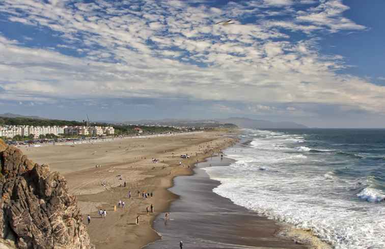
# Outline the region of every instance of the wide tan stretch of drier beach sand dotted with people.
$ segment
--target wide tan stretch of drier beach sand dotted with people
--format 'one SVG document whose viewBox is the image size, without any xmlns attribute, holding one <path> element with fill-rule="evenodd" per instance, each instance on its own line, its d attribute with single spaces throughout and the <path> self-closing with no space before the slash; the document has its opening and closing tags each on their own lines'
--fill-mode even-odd
<svg viewBox="0 0 385 249">
<path fill-rule="evenodd" d="M 167 190 L 172 186 L 173 178 L 191 174 L 190 168 L 197 160 L 202 161 L 234 143 L 224 133 L 203 132 L 20 149 L 33 161 L 47 163 L 52 171 L 64 174 L 84 217 L 91 216 L 88 231 L 97 248 L 134 249 L 159 239 L 151 228 L 152 220 L 177 198 Z M 186 153 L 191 156 L 189 159 L 179 157 Z M 153 163 L 152 158 L 159 161 Z M 123 187 L 124 182 L 126 187 Z M 153 192 L 154 197 L 137 197 L 138 190 Z M 127 197 L 128 191 L 131 191 L 131 199 Z M 119 200 L 126 206 L 114 211 Z M 147 215 L 146 207 L 151 204 L 155 212 Z M 98 217 L 99 208 L 107 211 L 106 218 Z M 135 225 L 137 215 L 140 215 L 139 226 Z M 86 223 L 86 218 L 84 220 Z"/>
</svg>

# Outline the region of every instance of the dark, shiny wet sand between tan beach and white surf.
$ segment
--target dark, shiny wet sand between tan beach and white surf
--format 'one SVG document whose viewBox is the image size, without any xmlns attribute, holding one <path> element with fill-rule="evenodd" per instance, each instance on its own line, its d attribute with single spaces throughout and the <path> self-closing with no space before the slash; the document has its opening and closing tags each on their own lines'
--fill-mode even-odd
<svg viewBox="0 0 385 249">
<path fill-rule="evenodd" d="M 154 221 L 154 229 L 162 236 L 145 249 L 179 248 L 307 248 L 293 240 L 277 236 L 280 226 L 274 220 L 257 215 L 212 192 L 219 185 L 202 168 L 228 165 L 230 159 L 208 158 L 198 163 L 193 176 L 174 179 L 170 191 L 179 199 L 170 205 L 170 220 L 164 213 Z"/>
</svg>

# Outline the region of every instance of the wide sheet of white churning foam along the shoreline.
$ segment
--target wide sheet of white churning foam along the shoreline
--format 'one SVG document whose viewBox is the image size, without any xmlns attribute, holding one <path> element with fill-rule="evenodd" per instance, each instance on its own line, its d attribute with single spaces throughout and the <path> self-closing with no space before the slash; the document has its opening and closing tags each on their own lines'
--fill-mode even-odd
<svg viewBox="0 0 385 249">
<path fill-rule="evenodd" d="M 236 162 L 205 169 L 221 182 L 214 192 L 272 219 L 312 229 L 336 249 L 385 248 L 385 208 L 378 203 L 385 196 L 369 187 L 370 179 L 341 179 L 327 166 L 329 153 L 295 154 L 312 149 L 296 147 L 286 134 L 253 132 L 251 147 L 228 150 Z M 362 189 L 358 194 L 357 188 Z"/>
</svg>

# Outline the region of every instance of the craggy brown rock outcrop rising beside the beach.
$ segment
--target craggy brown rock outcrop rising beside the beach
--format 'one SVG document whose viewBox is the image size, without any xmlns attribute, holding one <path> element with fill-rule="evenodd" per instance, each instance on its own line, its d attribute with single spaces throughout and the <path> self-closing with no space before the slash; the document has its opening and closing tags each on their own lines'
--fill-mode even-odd
<svg viewBox="0 0 385 249">
<path fill-rule="evenodd" d="M 0 165 L 0 249 L 94 248 L 63 176 L 2 140 Z"/>
</svg>

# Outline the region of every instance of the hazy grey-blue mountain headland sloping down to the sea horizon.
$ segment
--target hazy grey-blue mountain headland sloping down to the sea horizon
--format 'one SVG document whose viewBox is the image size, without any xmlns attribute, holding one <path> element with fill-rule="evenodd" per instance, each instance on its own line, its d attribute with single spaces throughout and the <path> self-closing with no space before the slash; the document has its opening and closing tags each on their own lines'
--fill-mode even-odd
<svg viewBox="0 0 385 249">
<path fill-rule="evenodd" d="M 294 122 L 271 122 L 267 120 L 255 120 L 248 118 L 217 119 L 221 123 L 231 123 L 242 128 L 266 128 L 266 129 L 299 129 L 308 128 L 305 125 Z"/>
</svg>

